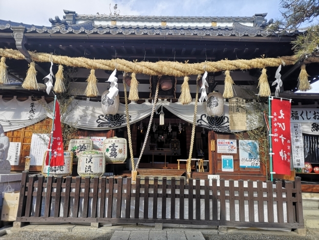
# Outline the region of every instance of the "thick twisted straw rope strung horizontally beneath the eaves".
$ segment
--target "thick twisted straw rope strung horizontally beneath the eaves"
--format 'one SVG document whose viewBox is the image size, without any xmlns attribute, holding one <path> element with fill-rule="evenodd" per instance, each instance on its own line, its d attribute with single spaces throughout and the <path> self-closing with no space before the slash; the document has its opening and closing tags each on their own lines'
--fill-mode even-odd
<svg viewBox="0 0 319 240">
<path fill-rule="evenodd" d="M 85 57 L 68 57 L 52 55 L 43 52 L 28 51 L 33 61 L 35 62 L 50 62 L 63 64 L 69 67 L 86 68 L 86 69 L 102 69 L 114 70 L 123 72 L 143 73 L 146 75 L 170 75 L 175 77 L 185 75 L 195 75 L 204 73 L 204 67 L 207 72 L 220 72 L 225 70 L 249 70 L 249 69 L 263 69 L 266 67 L 278 67 L 279 65 L 293 65 L 298 61 L 296 56 L 282 56 L 278 58 L 255 58 L 251 60 L 237 59 L 237 60 L 220 60 L 216 62 L 202 62 L 202 63 L 179 63 L 167 61 L 151 62 L 130 62 L 124 59 L 88 59 Z M 0 48 L 0 56 L 6 58 L 13 58 L 17 60 L 25 59 L 24 55 L 19 50 Z M 305 64 L 311 62 L 319 62 L 319 57 L 310 57 L 304 61 Z M 187 66 L 186 66 L 187 65 Z"/>
</svg>

